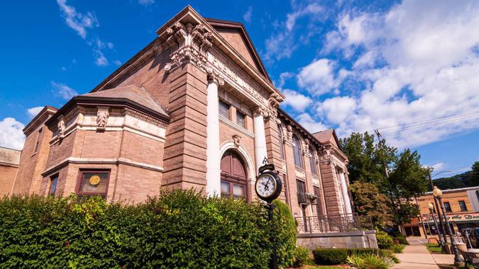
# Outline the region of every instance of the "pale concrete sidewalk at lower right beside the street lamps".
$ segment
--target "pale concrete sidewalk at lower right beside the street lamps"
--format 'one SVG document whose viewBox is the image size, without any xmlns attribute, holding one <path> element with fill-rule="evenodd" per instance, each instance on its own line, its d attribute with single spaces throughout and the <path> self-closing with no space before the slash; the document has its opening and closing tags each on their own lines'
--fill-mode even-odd
<svg viewBox="0 0 479 269">
<path fill-rule="evenodd" d="M 431 255 L 424 245 L 409 245 L 403 253 L 396 254 L 401 263 L 394 265 L 394 269 L 407 268 L 439 268 L 438 264 L 453 264 L 454 256 L 447 254 Z"/>
</svg>

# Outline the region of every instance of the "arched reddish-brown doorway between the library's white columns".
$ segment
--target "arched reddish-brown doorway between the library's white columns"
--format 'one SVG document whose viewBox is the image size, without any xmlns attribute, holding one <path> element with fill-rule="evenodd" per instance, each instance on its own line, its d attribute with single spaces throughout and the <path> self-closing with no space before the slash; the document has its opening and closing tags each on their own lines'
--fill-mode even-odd
<svg viewBox="0 0 479 269">
<path fill-rule="evenodd" d="M 221 157 L 221 196 L 234 199 L 247 198 L 248 172 L 243 159 L 229 149 Z"/>
</svg>

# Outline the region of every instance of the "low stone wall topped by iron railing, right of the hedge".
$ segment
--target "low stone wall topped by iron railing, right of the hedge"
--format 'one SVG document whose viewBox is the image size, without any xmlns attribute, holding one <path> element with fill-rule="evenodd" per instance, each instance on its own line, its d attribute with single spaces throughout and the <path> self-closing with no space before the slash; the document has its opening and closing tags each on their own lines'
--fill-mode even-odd
<svg viewBox="0 0 479 269">
<path fill-rule="evenodd" d="M 309 248 L 378 248 L 375 231 L 298 234 L 297 245 Z"/>
</svg>

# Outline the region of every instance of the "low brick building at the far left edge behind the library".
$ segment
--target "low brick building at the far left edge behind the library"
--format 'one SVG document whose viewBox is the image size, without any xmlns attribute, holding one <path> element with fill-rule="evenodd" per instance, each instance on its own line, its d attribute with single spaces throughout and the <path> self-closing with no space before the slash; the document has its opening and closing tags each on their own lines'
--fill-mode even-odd
<svg viewBox="0 0 479 269">
<path fill-rule="evenodd" d="M 0 198 L 9 195 L 15 181 L 21 151 L 0 147 Z"/>
</svg>

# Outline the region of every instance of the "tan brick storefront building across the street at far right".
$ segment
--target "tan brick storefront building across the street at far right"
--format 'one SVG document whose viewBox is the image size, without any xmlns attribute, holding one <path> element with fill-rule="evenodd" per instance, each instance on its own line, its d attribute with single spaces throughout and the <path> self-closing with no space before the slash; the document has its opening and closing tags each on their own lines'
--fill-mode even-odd
<svg viewBox="0 0 479 269">
<path fill-rule="evenodd" d="M 451 230 L 453 232 L 460 232 L 463 228 L 478 227 L 479 187 L 443 190 L 442 193 L 442 200 L 446 209 L 446 217 L 448 222 L 450 222 Z M 434 197 L 432 193 L 424 193 L 424 195 L 417 197 L 417 201 L 413 200 L 413 202 L 417 205 L 421 216 L 411 219 L 409 224 L 404 224 L 404 234 L 406 236 L 425 237 L 425 229 L 427 235 L 437 235 L 438 231 L 434 225 L 434 219 L 431 216 L 428 207 L 429 202 L 434 205 Z M 438 222 L 438 225 L 440 226 L 436 212 L 438 212 L 438 210 L 434 208 L 436 222 Z M 424 228 L 422 225 L 423 223 Z"/>
</svg>

